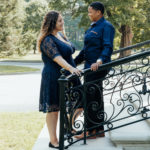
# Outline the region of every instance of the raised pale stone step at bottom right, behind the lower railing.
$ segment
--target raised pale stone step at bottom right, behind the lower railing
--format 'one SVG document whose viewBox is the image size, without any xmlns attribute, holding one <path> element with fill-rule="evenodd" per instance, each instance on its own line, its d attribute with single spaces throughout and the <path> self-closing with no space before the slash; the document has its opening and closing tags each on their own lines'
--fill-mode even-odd
<svg viewBox="0 0 150 150">
<path fill-rule="evenodd" d="M 141 117 L 134 116 L 129 118 L 128 121 L 136 121 L 137 119 L 141 119 Z M 124 120 L 122 123 L 126 121 Z M 124 150 L 150 150 L 150 126 L 147 121 L 110 131 L 109 134 L 112 142 L 116 146 L 123 147 Z"/>
</svg>

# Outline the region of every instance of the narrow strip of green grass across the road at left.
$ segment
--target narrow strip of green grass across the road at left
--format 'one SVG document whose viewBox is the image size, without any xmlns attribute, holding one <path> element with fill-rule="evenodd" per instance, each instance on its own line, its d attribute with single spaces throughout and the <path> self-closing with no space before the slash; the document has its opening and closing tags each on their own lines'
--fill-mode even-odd
<svg viewBox="0 0 150 150">
<path fill-rule="evenodd" d="M 12 73 L 23 73 L 23 72 L 34 72 L 40 71 L 40 69 L 20 66 L 0 66 L 0 74 L 12 74 Z"/>
</svg>

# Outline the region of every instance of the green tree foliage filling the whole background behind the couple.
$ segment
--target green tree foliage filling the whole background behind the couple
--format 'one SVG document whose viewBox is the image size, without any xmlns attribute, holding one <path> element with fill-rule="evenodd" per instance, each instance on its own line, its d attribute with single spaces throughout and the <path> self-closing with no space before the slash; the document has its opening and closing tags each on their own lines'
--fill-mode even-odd
<svg viewBox="0 0 150 150">
<path fill-rule="evenodd" d="M 0 0 L 0 57 L 25 55 L 36 50 L 43 16 L 62 12 L 68 39 L 82 49 L 84 31 L 90 26 L 87 9 L 93 0 Z M 133 31 L 133 44 L 149 39 L 150 0 L 101 0 L 105 18 L 116 28 L 115 49 L 120 46 L 122 25 Z"/>
</svg>

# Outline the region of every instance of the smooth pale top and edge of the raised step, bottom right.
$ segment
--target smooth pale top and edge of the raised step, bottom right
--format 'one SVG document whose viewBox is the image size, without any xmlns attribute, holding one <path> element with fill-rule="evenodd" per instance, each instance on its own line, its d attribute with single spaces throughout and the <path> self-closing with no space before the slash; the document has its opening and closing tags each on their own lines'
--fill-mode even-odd
<svg viewBox="0 0 150 150">
<path fill-rule="evenodd" d="M 110 131 L 109 134 L 115 144 L 150 144 L 150 127 L 147 121 Z"/>
</svg>

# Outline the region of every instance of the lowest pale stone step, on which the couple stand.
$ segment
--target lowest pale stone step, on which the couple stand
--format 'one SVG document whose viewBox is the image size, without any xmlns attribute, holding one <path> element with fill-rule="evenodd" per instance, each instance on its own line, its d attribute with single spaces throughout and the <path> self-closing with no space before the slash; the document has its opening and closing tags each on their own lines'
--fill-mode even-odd
<svg viewBox="0 0 150 150">
<path fill-rule="evenodd" d="M 59 132 L 57 129 L 57 135 L 58 133 Z M 48 143 L 49 135 L 47 126 L 45 125 L 32 150 L 53 150 L 52 148 L 48 147 Z M 83 141 L 80 141 L 70 146 L 68 150 L 122 150 L 122 148 L 116 148 L 110 141 L 109 133 L 106 133 L 105 138 L 87 140 L 86 145 L 83 145 Z"/>
</svg>

